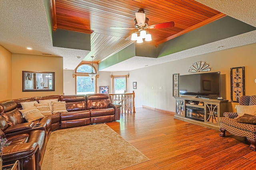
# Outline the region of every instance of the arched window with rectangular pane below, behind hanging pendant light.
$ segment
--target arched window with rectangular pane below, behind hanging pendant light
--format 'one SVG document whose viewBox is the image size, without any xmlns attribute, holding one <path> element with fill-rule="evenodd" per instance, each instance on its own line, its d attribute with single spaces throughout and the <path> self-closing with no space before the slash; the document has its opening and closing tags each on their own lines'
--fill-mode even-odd
<svg viewBox="0 0 256 170">
<path fill-rule="evenodd" d="M 96 93 L 96 80 L 92 82 L 88 74 L 92 71 L 96 73 L 90 64 L 81 64 L 76 68 L 76 94 Z"/>
</svg>

